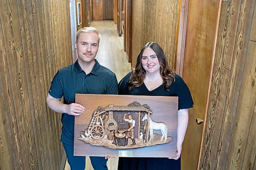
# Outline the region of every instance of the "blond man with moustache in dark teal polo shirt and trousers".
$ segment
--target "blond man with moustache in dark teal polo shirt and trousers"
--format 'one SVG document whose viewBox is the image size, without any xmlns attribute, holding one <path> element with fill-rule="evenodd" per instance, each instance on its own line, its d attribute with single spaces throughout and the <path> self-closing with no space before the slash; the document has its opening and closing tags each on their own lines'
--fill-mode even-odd
<svg viewBox="0 0 256 170">
<path fill-rule="evenodd" d="M 84 169 L 86 157 L 74 156 L 74 119 L 84 107 L 75 103 L 75 94 L 117 94 L 114 72 L 101 66 L 95 59 L 100 35 L 93 27 L 84 27 L 76 33 L 75 48 L 78 59 L 74 64 L 61 68 L 52 80 L 46 102 L 52 110 L 62 113 L 61 142 L 71 169 Z M 60 99 L 63 96 L 63 103 Z M 104 157 L 90 157 L 94 169 L 108 169 Z"/>
</svg>

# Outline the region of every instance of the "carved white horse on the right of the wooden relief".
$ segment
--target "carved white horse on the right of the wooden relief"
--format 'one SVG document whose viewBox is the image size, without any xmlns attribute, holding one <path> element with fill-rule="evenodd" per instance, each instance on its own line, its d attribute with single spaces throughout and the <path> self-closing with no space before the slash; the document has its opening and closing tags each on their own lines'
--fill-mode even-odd
<svg viewBox="0 0 256 170">
<path fill-rule="evenodd" d="M 149 116 L 149 117 L 150 117 L 150 116 Z M 145 114 L 145 115 L 143 116 L 142 121 L 144 121 L 144 120 L 147 120 L 147 114 Z M 164 123 L 157 123 L 157 122 L 154 122 L 154 121 L 151 119 L 151 117 L 150 117 L 149 126 L 150 126 L 150 140 L 153 140 L 153 131 L 154 131 L 154 130 L 161 130 L 161 133 L 162 133 L 161 141 L 163 140 L 163 138 L 164 138 L 164 141 L 166 141 L 168 129 L 167 129 L 167 126 L 166 126 Z"/>
</svg>

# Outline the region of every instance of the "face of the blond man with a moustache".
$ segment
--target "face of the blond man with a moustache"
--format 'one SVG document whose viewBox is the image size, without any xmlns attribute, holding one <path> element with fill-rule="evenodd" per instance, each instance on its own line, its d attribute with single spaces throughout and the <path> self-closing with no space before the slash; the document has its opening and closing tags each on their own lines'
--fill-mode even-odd
<svg viewBox="0 0 256 170">
<path fill-rule="evenodd" d="M 94 62 L 99 49 L 99 37 L 96 33 L 81 33 L 75 43 L 78 54 L 78 61 Z"/>
</svg>

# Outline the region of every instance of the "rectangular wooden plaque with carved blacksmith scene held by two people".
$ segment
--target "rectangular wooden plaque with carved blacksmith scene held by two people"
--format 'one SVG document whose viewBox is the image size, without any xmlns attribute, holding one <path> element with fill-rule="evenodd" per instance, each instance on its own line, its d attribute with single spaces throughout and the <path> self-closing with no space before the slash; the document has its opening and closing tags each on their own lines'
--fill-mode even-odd
<svg viewBox="0 0 256 170">
<path fill-rule="evenodd" d="M 74 155 L 176 156 L 178 97 L 76 94 Z"/>
</svg>

